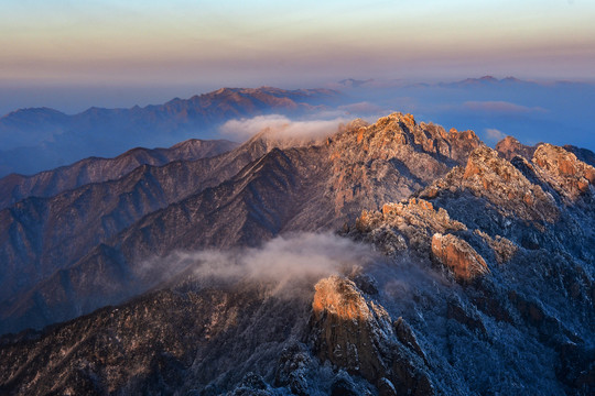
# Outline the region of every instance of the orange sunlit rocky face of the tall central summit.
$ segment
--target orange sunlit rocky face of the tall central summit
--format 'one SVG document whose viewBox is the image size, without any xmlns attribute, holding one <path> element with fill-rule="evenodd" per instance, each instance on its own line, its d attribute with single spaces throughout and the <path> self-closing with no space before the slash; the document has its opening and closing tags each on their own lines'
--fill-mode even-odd
<svg viewBox="0 0 595 396">
<path fill-rule="evenodd" d="M 380 207 L 388 197 L 408 197 L 454 165 L 465 162 L 479 139 L 472 132 L 446 133 L 393 113 L 367 125 L 354 122 L 331 138 L 329 194 L 336 211 Z"/>
</svg>

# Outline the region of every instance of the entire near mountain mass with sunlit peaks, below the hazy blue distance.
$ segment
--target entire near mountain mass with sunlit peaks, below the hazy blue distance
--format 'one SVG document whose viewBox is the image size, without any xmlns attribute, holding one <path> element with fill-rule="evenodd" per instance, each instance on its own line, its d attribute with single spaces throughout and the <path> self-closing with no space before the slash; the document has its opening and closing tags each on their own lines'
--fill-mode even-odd
<svg viewBox="0 0 595 396">
<path fill-rule="evenodd" d="M 0 392 L 595 389 L 589 151 L 402 113 L 212 144 L 0 180 Z"/>
</svg>

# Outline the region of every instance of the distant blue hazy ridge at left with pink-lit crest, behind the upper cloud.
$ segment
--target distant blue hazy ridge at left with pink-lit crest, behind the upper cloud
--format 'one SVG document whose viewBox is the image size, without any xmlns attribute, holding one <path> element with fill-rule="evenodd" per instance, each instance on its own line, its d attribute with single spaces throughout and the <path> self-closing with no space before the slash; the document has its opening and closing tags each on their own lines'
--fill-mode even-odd
<svg viewBox="0 0 595 396">
<path fill-rule="evenodd" d="M 91 108 L 74 116 L 45 108 L 18 110 L 0 118 L 0 177 L 34 174 L 91 155 L 113 156 L 141 144 L 213 138 L 229 119 L 320 111 L 337 96 L 328 89 L 221 88 L 159 106 Z"/>
</svg>

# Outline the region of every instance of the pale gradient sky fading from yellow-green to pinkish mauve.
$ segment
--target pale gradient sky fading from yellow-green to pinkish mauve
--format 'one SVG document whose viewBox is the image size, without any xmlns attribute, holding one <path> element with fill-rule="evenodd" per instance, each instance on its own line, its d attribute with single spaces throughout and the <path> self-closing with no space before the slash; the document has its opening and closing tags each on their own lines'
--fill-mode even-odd
<svg viewBox="0 0 595 396">
<path fill-rule="evenodd" d="M 0 0 L 0 81 L 595 79 L 595 1 Z"/>
</svg>

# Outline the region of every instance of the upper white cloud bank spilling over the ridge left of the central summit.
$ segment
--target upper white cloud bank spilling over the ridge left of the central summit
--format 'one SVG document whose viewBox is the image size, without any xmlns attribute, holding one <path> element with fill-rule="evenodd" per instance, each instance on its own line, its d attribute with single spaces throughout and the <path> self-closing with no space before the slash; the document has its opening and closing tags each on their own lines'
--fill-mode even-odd
<svg viewBox="0 0 595 396">
<path fill-rule="evenodd" d="M 250 119 L 229 120 L 220 128 L 224 135 L 247 140 L 260 132 L 284 139 L 321 139 L 335 133 L 342 123 L 350 119 L 292 121 L 285 116 L 258 116 Z"/>
</svg>

